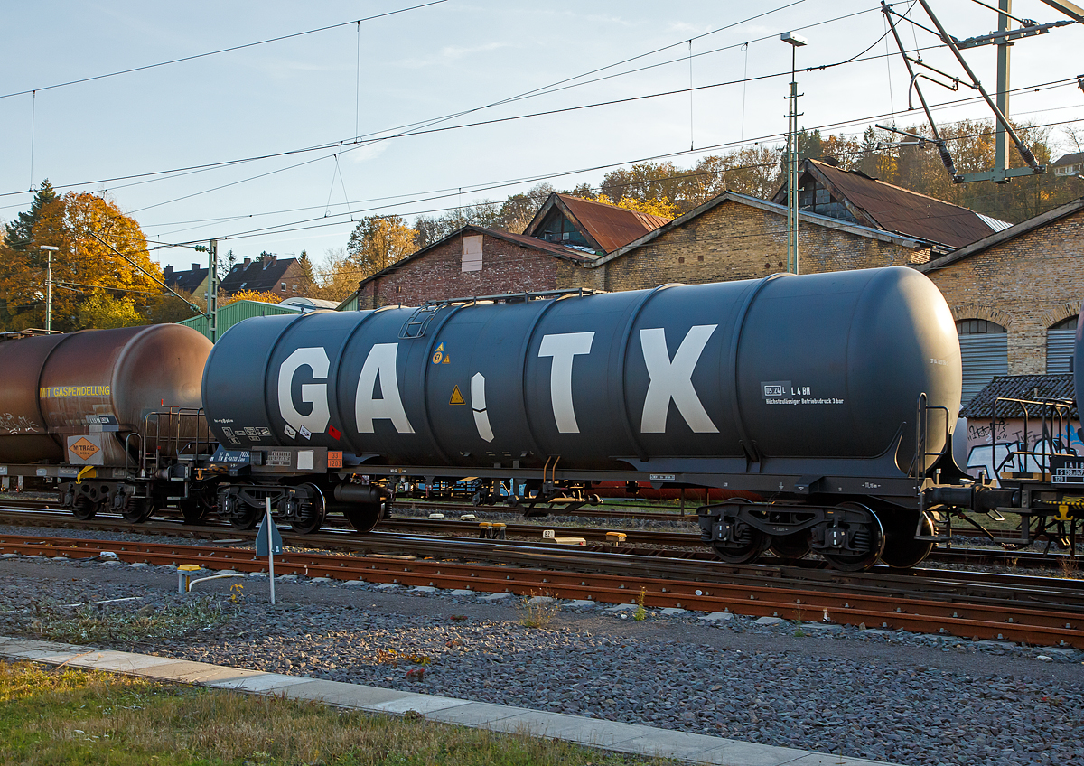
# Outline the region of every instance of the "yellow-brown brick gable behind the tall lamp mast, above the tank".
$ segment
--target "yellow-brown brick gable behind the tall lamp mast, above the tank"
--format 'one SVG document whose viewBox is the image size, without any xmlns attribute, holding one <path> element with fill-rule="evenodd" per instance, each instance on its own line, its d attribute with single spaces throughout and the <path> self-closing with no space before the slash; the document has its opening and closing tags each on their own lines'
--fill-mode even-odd
<svg viewBox="0 0 1084 766">
<path fill-rule="evenodd" d="M 836 218 L 802 212 L 801 273 L 913 265 L 933 245 Z M 668 282 L 751 280 L 786 271 L 787 209 L 724 192 L 606 256 L 584 263 L 582 281 L 563 287 L 632 290 Z"/>
</svg>

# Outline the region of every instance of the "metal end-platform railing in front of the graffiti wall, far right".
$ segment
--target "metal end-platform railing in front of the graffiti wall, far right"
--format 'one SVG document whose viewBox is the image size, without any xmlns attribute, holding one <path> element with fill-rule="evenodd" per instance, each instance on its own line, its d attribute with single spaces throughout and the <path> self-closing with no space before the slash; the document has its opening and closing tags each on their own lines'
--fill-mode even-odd
<svg viewBox="0 0 1084 766">
<path fill-rule="evenodd" d="M 1003 418 L 1023 415 L 1023 432 L 1020 439 L 1014 441 L 997 441 L 997 410 L 1002 407 Z M 1072 406 L 1071 399 L 1035 398 L 1015 399 L 998 397 L 990 416 L 990 442 L 992 454 L 996 455 L 998 446 L 1006 450 L 1005 457 L 994 468 L 997 479 L 1006 467 L 1015 470 L 1010 473 L 1038 473 L 1044 478 L 1050 472 L 1050 462 L 1055 456 L 1075 456 L 1072 443 Z M 1006 412 L 1008 411 L 1008 413 Z M 1033 424 L 1040 421 L 1036 439 L 1032 440 Z M 1038 449 L 1036 449 L 1038 447 Z M 1035 470 L 1030 470 L 1034 468 Z"/>
</svg>

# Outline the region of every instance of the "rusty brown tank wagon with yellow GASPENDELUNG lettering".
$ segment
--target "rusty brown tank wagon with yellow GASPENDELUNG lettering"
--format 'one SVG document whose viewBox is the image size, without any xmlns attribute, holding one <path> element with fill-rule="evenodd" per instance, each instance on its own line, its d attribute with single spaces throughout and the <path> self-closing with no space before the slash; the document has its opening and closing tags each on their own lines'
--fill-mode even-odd
<svg viewBox="0 0 1084 766">
<path fill-rule="evenodd" d="M 116 480 L 139 468 L 142 453 L 172 456 L 206 441 L 202 417 L 179 416 L 201 407 L 211 342 L 196 330 L 169 324 L 8 337 L 0 342 L 0 463 L 77 479 L 61 488 L 80 515 L 124 509 L 134 495 Z"/>
</svg>

